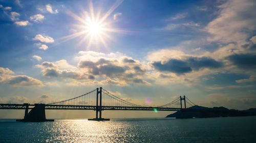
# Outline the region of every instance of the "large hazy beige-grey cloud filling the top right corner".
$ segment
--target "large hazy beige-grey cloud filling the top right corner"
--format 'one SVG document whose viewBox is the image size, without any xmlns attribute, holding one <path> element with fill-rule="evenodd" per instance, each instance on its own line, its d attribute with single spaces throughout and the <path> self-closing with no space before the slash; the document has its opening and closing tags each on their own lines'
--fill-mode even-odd
<svg viewBox="0 0 256 143">
<path fill-rule="evenodd" d="M 208 41 L 227 43 L 246 40 L 256 28 L 255 7 L 253 0 L 227 1 L 219 6 L 219 16 L 205 27 L 212 35 Z"/>
</svg>

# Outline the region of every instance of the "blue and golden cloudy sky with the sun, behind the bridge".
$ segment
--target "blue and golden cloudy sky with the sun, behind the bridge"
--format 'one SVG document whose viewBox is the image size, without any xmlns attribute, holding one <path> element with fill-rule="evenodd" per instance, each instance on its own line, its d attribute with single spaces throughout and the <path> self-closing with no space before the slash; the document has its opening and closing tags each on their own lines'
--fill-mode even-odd
<svg viewBox="0 0 256 143">
<path fill-rule="evenodd" d="M 0 0 L 0 103 L 52 103 L 103 87 L 148 106 L 186 95 L 201 106 L 255 108 L 255 7 L 254 0 Z M 94 114 L 47 111 L 50 118 Z M 0 110 L 1 118 L 23 116 Z"/>
</svg>

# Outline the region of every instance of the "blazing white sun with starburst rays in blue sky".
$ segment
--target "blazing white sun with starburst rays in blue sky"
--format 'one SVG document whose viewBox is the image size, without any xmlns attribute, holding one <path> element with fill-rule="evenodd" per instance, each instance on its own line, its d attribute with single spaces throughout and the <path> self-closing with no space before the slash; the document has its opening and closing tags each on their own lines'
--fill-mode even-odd
<svg viewBox="0 0 256 143">
<path fill-rule="evenodd" d="M 94 13 L 92 1 L 89 2 L 89 12 L 81 12 L 80 16 L 72 13 L 71 11 L 67 11 L 67 13 L 76 19 L 78 23 L 73 25 L 75 28 L 73 34 L 60 39 L 64 42 L 80 37 L 78 44 L 80 45 L 85 43 L 87 50 L 90 50 L 91 45 L 93 44 L 103 45 L 105 48 L 108 48 L 106 41 L 113 40 L 111 33 L 125 32 L 112 27 L 113 22 L 115 22 L 115 17 L 114 20 L 112 18 L 108 18 L 121 3 L 122 0 L 117 1 L 104 15 L 101 13 L 101 8 L 99 8 L 96 14 Z"/>
</svg>

